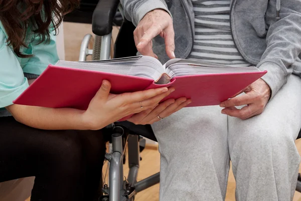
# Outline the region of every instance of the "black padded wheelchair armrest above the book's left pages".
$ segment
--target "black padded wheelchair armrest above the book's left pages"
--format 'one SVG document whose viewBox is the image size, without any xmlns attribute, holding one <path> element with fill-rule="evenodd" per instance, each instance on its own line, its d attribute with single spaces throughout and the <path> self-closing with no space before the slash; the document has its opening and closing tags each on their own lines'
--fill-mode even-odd
<svg viewBox="0 0 301 201">
<path fill-rule="evenodd" d="M 113 18 L 116 14 L 119 0 L 99 0 L 92 17 L 92 31 L 98 36 L 112 32 Z"/>
</svg>

